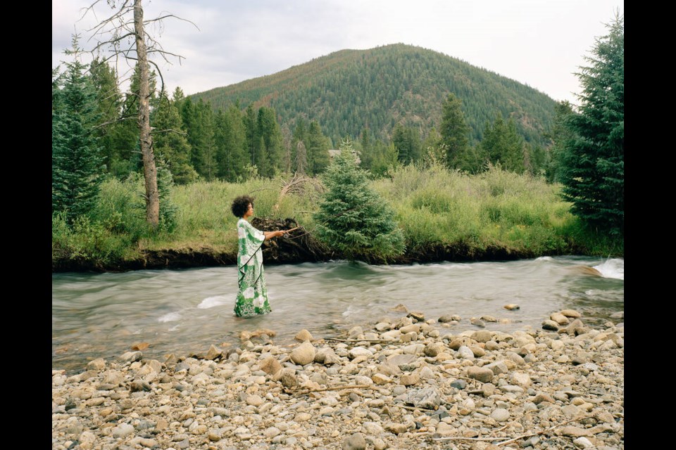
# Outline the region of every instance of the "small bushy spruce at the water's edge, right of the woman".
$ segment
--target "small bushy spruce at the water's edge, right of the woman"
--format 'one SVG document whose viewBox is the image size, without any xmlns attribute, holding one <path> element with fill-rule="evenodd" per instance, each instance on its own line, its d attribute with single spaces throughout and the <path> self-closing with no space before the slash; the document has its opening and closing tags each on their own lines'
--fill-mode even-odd
<svg viewBox="0 0 676 450">
<path fill-rule="evenodd" d="M 327 169 L 327 193 L 314 215 L 317 237 L 351 261 L 400 255 L 403 236 L 393 210 L 368 186 L 351 143 L 340 150 Z"/>
</svg>

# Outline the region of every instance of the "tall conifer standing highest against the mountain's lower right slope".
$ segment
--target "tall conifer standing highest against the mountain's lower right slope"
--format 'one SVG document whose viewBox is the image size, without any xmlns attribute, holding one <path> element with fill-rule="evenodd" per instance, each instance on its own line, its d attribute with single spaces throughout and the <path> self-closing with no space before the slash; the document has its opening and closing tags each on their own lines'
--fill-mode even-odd
<svg viewBox="0 0 676 450">
<path fill-rule="evenodd" d="M 440 134 L 442 143 L 446 144 L 446 167 L 463 169 L 469 146 L 470 127 L 465 122 L 462 102 L 456 94 L 449 94 L 442 105 L 442 125 Z"/>
</svg>

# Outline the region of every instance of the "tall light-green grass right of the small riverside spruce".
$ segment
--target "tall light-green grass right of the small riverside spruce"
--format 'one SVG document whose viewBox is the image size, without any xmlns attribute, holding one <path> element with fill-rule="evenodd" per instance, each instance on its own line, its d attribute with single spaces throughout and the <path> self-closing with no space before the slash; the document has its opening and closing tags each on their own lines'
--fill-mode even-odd
<svg viewBox="0 0 676 450">
<path fill-rule="evenodd" d="M 373 186 L 394 205 L 409 251 L 462 243 L 477 251 L 491 246 L 552 255 L 587 251 L 593 240 L 559 197 L 561 186 L 527 174 L 492 167 L 468 175 L 411 165 Z"/>
</svg>

